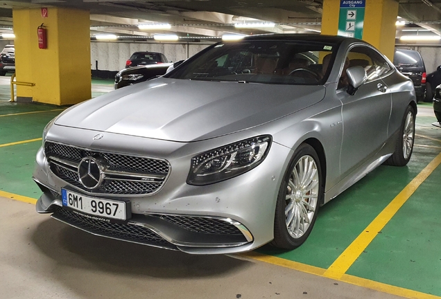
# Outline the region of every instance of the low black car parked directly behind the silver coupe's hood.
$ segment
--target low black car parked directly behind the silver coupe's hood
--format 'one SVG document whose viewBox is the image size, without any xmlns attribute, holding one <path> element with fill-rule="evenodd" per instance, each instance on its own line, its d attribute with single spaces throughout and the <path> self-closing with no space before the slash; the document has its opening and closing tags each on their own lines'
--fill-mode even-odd
<svg viewBox="0 0 441 299">
<path fill-rule="evenodd" d="M 164 75 L 168 67 L 171 65 L 171 63 L 150 64 L 123 69 L 115 76 L 114 89 L 119 89 L 121 87 L 156 78 L 159 75 Z"/>
</svg>

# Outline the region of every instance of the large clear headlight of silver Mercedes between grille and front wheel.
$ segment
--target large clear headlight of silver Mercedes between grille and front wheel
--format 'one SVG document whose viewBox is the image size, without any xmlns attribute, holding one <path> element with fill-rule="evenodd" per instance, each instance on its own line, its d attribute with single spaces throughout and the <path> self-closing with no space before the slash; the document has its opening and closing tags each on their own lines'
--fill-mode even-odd
<svg viewBox="0 0 441 299">
<path fill-rule="evenodd" d="M 195 156 L 187 183 L 208 185 L 248 172 L 266 157 L 271 141 L 271 136 L 257 136 Z"/>
</svg>

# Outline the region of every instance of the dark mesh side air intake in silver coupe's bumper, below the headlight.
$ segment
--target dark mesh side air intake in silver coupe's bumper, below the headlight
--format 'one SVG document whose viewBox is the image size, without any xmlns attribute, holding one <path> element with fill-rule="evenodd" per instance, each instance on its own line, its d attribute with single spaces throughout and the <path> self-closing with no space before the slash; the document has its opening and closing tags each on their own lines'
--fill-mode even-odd
<svg viewBox="0 0 441 299">
<path fill-rule="evenodd" d="M 194 233 L 242 235 L 239 228 L 220 219 L 178 215 L 160 215 L 159 217 Z"/>
</svg>

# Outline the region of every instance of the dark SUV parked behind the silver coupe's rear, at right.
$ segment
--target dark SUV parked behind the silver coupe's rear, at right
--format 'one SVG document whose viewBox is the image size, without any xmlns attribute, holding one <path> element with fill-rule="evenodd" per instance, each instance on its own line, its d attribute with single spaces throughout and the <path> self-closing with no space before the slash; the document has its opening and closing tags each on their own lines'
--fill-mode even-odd
<svg viewBox="0 0 441 299">
<path fill-rule="evenodd" d="M 395 49 L 394 65 L 403 75 L 413 81 L 417 101 L 426 98 L 426 66 L 418 51 Z"/>
</svg>

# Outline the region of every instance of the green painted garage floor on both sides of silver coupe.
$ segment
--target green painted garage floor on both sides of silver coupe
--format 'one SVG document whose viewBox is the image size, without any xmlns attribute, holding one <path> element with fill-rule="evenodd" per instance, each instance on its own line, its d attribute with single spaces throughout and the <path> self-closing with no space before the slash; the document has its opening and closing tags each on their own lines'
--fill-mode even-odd
<svg viewBox="0 0 441 299">
<path fill-rule="evenodd" d="M 95 82 L 110 86 L 112 82 Z M 103 91 L 104 92 L 104 91 Z M 429 105 L 420 105 L 429 107 Z M 61 111 L 50 105 L 0 102 L 0 145 L 40 138 Z M 18 114 L 40 111 L 35 114 Z M 309 239 L 294 251 L 266 253 L 327 269 L 412 179 L 441 152 L 441 129 L 433 116 L 417 116 L 417 136 L 406 167 L 380 166 L 320 209 Z M 31 176 L 41 141 L 0 146 L 0 190 L 37 198 Z M 420 185 L 347 274 L 441 296 L 441 167 Z"/>
</svg>

